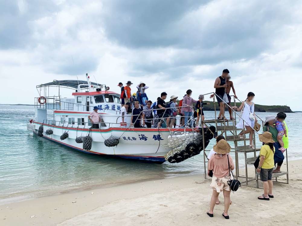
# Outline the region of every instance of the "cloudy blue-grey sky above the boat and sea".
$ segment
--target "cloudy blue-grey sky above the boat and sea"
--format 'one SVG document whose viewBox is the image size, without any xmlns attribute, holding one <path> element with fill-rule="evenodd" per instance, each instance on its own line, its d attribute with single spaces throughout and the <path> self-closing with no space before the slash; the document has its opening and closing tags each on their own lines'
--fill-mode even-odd
<svg viewBox="0 0 302 226">
<path fill-rule="evenodd" d="M 34 104 L 36 85 L 86 73 L 115 92 L 131 80 L 151 100 L 197 99 L 227 68 L 239 99 L 302 110 L 301 11 L 295 0 L 0 0 L 0 103 Z"/>
</svg>

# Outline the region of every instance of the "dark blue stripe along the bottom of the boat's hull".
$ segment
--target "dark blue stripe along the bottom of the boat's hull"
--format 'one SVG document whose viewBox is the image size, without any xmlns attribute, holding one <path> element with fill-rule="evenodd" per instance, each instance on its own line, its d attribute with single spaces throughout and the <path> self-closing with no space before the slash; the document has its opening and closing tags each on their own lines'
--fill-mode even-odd
<svg viewBox="0 0 302 226">
<path fill-rule="evenodd" d="M 92 153 L 92 152 L 86 152 L 84 150 L 81 150 L 81 149 L 78 149 L 78 148 L 75 148 L 75 147 L 71 147 L 68 144 L 64 144 L 64 143 L 60 143 L 56 140 L 52 140 L 49 137 L 46 137 L 46 136 L 43 136 L 43 137 L 46 138 L 47 140 L 53 141 L 55 143 L 61 144 L 63 146 L 69 147 L 71 149 L 74 149 L 74 150 L 77 150 L 77 151 L 80 151 L 80 152 L 84 152 L 84 153 L 87 153 L 87 154 L 93 154 L 93 155 L 104 155 L 104 154 L 95 154 L 95 153 Z M 143 161 L 143 162 L 152 162 L 152 163 L 158 163 L 158 164 L 162 164 L 166 161 L 165 158 L 163 158 L 163 157 L 162 158 L 161 157 L 143 157 L 143 156 L 129 156 L 129 155 L 105 155 L 105 156 L 110 156 L 110 157 L 114 157 L 114 158 L 119 157 L 119 158 L 123 158 L 123 159 L 131 159 L 131 160 L 137 160 L 137 161 Z"/>
</svg>

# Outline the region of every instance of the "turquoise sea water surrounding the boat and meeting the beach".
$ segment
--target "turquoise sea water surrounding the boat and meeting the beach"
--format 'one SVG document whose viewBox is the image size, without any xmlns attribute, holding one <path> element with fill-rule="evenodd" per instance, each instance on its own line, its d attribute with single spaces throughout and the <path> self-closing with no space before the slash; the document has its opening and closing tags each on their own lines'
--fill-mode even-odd
<svg viewBox="0 0 302 226">
<path fill-rule="evenodd" d="M 264 119 L 276 113 L 257 115 Z M 300 159 L 302 113 L 287 115 L 288 157 Z M 158 165 L 77 152 L 28 131 L 26 124 L 32 116 L 32 106 L 0 105 L 0 204 L 135 180 L 203 173 L 202 154 L 178 164 Z M 214 112 L 205 111 L 205 119 L 212 118 Z M 214 140 L 207 149 L 213 145 Z"/>
</svg>

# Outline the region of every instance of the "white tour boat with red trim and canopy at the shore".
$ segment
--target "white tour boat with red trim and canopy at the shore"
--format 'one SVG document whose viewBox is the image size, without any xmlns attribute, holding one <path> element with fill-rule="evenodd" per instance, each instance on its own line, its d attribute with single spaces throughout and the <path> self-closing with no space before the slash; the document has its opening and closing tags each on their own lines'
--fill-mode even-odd
<svg viewBox="0 0 302 226">
<path fill-rule="evenodd" d="M 120 94 L 110 91 L 106 85 L 91 82 L 88 74 L 86 80 L 54 80 L 36 86 L 39 97 L 35 98 L 35 116 L 27 124 L 27 129 L 80 152 L 155 163 L 165 162 L 169 157 L 166 154 L 184 145 L 185 141 L 188 143 L 190 139 L 196 140 L 196 137 L 201 139 L 201 133 L 189 127 L 133 128 L 130 126 L 131 114 L 125 116 L 127 124 L 121 125 Z M 58 96 L 49 95 L 53 86 L 59 89 Z M 73 89 L 73 98 L 62 98 L 62 88 Z M 99 129 L 92 129 L 88 120 L 94 106 L 98 106 L 101 118 Z M 88 148 L 84 147 L 85 137 L 90 137 Z M 187 143 L 182 149 L 186 148 Z M 170 157 L 175 153 L 171 153 Z M 195 154 L 187 157 L 183 154 L 178 159 L 175 156 L 169 162 L 180 162 Z"/>
</svg>

